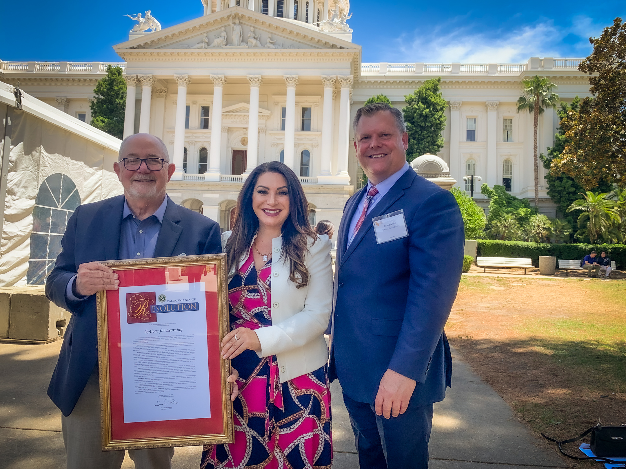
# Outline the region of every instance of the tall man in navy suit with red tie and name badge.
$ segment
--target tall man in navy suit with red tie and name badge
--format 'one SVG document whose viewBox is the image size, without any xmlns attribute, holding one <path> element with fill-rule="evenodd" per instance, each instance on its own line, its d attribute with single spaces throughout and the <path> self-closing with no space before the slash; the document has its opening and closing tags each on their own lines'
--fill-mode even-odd
<svg viewBox="0 0 626 469">
<path fill-rule="evenodd" d="M 463 219 L 449 191 L 406 163 L 399 109 L 358 109 L 354 148 L 369 181 L 339 227 L 329 377 L 343 388 L 361 469 L 428 468 L 433 403 L 451 380 L 443 328 Z"/>
</svg>

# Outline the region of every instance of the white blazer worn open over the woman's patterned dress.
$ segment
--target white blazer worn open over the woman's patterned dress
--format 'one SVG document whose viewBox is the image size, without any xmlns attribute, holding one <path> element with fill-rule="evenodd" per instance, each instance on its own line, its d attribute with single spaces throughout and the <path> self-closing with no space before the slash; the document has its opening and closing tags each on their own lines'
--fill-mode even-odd
<svg viewBox="0 0 626 469">
<path fill-rule="evenodd" d="M 232 231 L 222 234 L 222 246 Z M 254 241 L 253 241 L 254 242 Z M 272 239 L 272 325 L 256 329 L 261 343 L 261 357 L 276 355 L 280 382 L 292 380 L 321 368 L 328 361 L 324 331 L 332 310 L 331 240 L 317 236 L 309 246 L 304 265 L 309 271 L 309 285 L 295 288 L 289 280 L 289 259 L 282 260 L 282 236 Z M 248 258 L 239 260 L 239 269 Z M 230 269 L 230 273 L 234 273 Z"/>
</svg>

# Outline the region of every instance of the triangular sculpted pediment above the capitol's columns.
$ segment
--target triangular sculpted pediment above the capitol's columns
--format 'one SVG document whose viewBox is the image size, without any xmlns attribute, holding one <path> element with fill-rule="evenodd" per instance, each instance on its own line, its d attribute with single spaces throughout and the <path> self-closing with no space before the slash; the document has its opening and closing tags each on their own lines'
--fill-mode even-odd
<svg viewBox="0 0 626 469">
<path fill-rule="evenodd" d="M 295 23 L 235 6 L 143 34 L 113 48 L 123 58 L 126 54 L 133 55 L 131 51 L 137 49 L 150 49 L 157 54 L 180 49 L 205 54 L 224 51 L 246 54 L 275 49 L 360 50 L 359 46 L 333 38 L 310 25 Z"/>
</svg>

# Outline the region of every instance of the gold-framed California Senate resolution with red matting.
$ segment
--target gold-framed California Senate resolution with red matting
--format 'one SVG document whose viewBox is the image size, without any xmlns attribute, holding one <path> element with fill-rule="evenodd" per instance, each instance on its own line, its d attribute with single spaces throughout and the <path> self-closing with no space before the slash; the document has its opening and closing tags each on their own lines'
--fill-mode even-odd
<svg viewBox="0 0 626 469">
<path fill-rule="evenodd" d="M 103 264 L 120 280 L 96 298 L 103 450 L 232 442 L 226 256 Z"/>
</svg>

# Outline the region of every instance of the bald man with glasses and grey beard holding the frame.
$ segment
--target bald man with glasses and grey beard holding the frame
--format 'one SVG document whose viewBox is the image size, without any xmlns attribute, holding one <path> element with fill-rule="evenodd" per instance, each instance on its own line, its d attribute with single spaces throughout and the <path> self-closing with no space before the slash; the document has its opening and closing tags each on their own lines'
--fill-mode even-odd
<svg viewBox="0 0 626 469">
<path fill-rule="evenodd" d="M 175 166 L 161 139 L 126 138 L 113 168 L 124 195 L 74 211 L 46 280 L 49 300 L 72 313 L 48 387 L 63 414 L 68 469 L 119 469 L 124 459 L 124 451 L 101 450 L 95 294 L 117 290 L 120 281 L 98 261 L 222 252 L 218 224 L 165 193 Z M 173 454 L 174 448 L 129 451 L 141 469 L 169 469 Z"/>
</svg>

